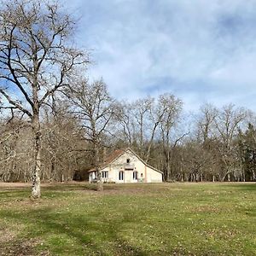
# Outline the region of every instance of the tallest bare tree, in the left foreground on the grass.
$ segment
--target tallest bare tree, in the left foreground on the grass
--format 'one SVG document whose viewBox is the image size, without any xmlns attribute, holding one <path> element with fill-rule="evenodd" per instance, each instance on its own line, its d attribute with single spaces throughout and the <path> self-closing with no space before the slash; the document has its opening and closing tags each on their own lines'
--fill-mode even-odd
<svg viewBox="0 0 256 256">
<path fill-rule="evenodd" d="M 71 15 L 63 14 L 57 3 L 1 3 L 1 108 L 12 114 L 21 112 L 32 126 L 33 198 L 41 195 L 41 108 L 50 96 L 67 86 L 75 67 L 88 62 L 87 55 L 69 41 L 73 29 Z"/>
</svg>

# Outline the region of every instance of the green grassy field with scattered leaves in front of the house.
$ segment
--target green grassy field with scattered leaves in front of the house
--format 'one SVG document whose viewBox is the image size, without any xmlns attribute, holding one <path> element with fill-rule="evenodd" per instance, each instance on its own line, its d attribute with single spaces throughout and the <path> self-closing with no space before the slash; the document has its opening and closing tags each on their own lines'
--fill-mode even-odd
<svg viewBox="0 0 256 256">
<path fill-rule="evenodd" d="M 256 183 L 0 184 L 0 255 L 256 255 Z"/>
</svg>

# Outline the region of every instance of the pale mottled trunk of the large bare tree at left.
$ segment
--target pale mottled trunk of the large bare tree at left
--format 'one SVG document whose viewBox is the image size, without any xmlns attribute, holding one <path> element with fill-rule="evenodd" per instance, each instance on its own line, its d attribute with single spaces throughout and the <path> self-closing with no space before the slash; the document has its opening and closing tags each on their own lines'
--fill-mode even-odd
<svg viewBox="0 0 256 256">
<path fill-rule="evenodd" d="M 32 131 L 34 136 L 34 167 L 32 170 L 32 198 L 41 196 L 40 174 L 41 174 L 41 130 L 39 115 L 32 119 Z"/>
</svg>

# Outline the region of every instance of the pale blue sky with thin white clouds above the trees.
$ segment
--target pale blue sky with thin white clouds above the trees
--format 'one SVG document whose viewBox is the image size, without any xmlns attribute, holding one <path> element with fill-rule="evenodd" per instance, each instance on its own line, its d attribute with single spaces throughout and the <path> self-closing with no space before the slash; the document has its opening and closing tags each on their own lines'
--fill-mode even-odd
<svg viewBox="0 0 256 256">
<path fill-rule="evenodd" d="M 256 111 L 256 0 L 73 0 L 90 79 L 132 101 L 172 93 L 184 109 Z"/>
</svg>

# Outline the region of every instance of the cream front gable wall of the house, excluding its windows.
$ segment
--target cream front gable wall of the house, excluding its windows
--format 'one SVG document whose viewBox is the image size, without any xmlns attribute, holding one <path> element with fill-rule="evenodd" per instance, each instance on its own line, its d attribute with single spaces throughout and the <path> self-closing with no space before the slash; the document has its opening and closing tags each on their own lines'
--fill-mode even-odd
<svg viewBox="0 0 256 256">
<path fill-rule="evenodd" d="M 126 160 L 130 159 L 131 166 L 134 166 L 134 170 L 125 170 Z M 119 172 L 124 172 L 124 180 L 119 181 Z M 137 171 L 137 180 L 133 179 L 133 172 Z M 141 160 L 137 158 L 132 152 L 127 151 L 122 154 L 117 160 L 114 160 L 110 166 L 102 169 L 102 172 L 108 172 L 108 178 L 103 178 L 105 182 L 115 183 L 160 183 L 162 182 L 162 174 L 154 171 L 154 169 L 145 166 Z"/>
</svg>

